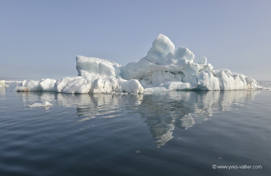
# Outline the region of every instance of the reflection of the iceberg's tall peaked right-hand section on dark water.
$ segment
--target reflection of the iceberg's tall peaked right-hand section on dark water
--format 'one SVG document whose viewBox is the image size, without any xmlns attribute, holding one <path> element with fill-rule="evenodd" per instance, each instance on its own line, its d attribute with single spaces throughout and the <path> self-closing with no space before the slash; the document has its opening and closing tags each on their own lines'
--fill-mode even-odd
<svg viewBox="0 0 271 176">
<path fill-rule="evenodd" d="M 173 138 L 174 128 L 185 130 L 206 121 L 213 113 L 236 110 L 251 100 L 257 91 L 173 91 L 161 95 L 144 95 L 137 111 L 150 126 L 155 142 L 164 145 Z"/>
</svg>

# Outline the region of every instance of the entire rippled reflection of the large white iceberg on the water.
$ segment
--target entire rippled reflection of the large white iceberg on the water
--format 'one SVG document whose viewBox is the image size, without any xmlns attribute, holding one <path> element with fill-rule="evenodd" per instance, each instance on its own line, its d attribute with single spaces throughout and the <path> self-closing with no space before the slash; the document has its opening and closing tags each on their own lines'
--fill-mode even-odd
<svg viewBox="0 0 271 176">
<path fill-rule="evenodd" d="M 185 130 L 210 119 L 213 113 L 237 110 L 250 103 L 260 91 L 169 91 L 159 94 L 62 94 L 17 92 L 25 102 L 40 101 L 76 108 L 78 122 L 93 118 L 111 118 L 140 114 L 150 127 L 155 144 L 162 146 L 173 138 L 174 128 Z M 30 96 L 31 94 L 31 96 Z M 35 94 L 35 95 L 33 95 Z M 48 108 L 47 108 L 48 109 Z"/>
</svg>

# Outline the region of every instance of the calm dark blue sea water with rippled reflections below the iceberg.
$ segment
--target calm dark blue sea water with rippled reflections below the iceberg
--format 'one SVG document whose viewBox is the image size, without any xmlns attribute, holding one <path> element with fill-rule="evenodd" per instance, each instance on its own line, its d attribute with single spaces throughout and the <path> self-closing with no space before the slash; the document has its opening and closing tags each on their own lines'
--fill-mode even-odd
<svg viewBox="0 0 271 176">
<path fill-rule="evenodd" d="M 1 176 L 271 173 L 271 91 L 62 94 L 15 86 L 0 88 Z M 42 101 L 54 105 L 26 107 Z M 258 168 L 218 168 L 244 165 Z"/>
</svg>

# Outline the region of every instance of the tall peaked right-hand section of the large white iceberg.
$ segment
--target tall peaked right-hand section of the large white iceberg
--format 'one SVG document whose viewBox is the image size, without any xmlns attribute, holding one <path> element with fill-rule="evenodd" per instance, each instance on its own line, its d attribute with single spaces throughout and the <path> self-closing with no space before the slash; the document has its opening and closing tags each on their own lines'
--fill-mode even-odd
<svg viewBox="0 0 271 176">
<path fill-rule="evenodd" d="M 193 62 L 195 56 L 191 51 L 184 47 L 173 51 L 175 48 L 173 43 L 162 34 L 155 39 L 152 46 L 147 56 L 141 58 L 139 62 L 121 67 L 120 76 L 124 79 L 137 79 L 144 88 L 165 87 L 170 90 L 262 88 L 249 76 L 232 73 L 229 69 L 214 70 L 210 63 L 207 64 L 205 56 L 199 57 L 198 63 Z"/>
</svg>

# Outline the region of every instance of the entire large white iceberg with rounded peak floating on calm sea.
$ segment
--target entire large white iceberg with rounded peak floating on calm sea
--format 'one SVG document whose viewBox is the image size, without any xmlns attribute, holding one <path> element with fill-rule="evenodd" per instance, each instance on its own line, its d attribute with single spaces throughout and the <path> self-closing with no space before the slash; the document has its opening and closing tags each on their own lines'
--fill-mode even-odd
<svg viewBox="0 0 271 176">
<path fill-rule="evenodd" d="M 110 60 L 76 56 L 76 77 L 24 80 L 16 91 L 55 91 L 67 94 L 149 93 L 170 90 L 241 90 L 263 89 L 249 76 L 229 69 L 213 69 L 205 56 L 194 62 L 195 55 L 185 47 L 175 50 L 167 36 L 159 34 L 147 55 L 139 62 L 121 66 Z"/>
</svg>

